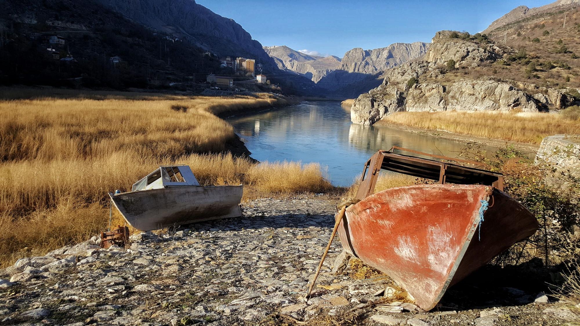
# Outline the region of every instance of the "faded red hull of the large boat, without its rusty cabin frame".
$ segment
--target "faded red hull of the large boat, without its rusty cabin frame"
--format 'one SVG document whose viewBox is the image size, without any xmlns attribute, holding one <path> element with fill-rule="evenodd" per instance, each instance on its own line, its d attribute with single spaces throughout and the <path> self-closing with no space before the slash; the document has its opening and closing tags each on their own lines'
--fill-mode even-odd
<svg viewBox="0 0 580 326">
<path fill-rule="evenodd" d="M 339 236 L 347 252 L 430 310 L 449 286 L 537 229 L 530 211 L 493 187 L 429 184 L 387 189 L 351 205 Z"/>
</svg>

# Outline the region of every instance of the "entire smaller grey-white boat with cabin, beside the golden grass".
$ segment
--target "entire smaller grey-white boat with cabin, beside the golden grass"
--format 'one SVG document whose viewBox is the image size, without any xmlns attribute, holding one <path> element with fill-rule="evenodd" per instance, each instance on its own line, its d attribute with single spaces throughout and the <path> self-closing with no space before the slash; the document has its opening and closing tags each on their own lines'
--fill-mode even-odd
<svg viewBox="0 0 580 326">
<path fill-rule="evenodd" d="M 149 231 L 241 216 L 242 186 L 200 186 L 187 165 L 160 166 L 126 193 L 109 193 L 127 223 Z"/>
</svg>

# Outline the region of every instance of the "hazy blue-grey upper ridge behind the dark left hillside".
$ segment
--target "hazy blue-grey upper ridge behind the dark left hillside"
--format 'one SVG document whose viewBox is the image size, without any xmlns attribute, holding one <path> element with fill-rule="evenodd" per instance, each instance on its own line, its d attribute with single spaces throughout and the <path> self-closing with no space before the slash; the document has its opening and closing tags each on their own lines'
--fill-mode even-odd
<svg viewBox="0 0 580 326">
<path fill-rule="evenodd" d="M 260 58 L 271 63 L 262 45 L 233 19 L 222 17 L 194 0 L 96 0 L 146 26 L 183 35 L 219 55 Z"/>
</svg>

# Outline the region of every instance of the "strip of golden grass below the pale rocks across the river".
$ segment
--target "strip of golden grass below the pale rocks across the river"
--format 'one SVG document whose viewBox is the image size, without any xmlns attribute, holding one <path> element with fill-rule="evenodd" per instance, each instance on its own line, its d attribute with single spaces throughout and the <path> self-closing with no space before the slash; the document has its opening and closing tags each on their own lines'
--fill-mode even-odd
<svg viewBox="0 0 580 326">
<path fill-rule="evenodd" d="M 578 133 L 580 130 L 580 121 L 570 121 L 548 113 L 400 112 L 382 121 L 385 124 L 531 144 L 541 143 L 546 136 Z"/>
</svg>

